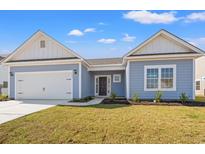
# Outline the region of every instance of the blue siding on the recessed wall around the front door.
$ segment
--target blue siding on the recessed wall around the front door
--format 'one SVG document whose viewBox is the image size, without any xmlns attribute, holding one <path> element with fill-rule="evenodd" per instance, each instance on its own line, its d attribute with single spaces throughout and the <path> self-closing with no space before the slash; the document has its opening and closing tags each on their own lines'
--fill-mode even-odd
<svg viewBox="0 0 205 154">
<path fill-rule="evenodd" d="M 121 74 L 121 82 L 113 82 L 113 74 Z M 111 75 L 111 91 L 117 96 L 125 96 L 125 71 L 93 71 L 91 72 L 91 93 L 95 95 L 95 75 Z"/>
</svg>

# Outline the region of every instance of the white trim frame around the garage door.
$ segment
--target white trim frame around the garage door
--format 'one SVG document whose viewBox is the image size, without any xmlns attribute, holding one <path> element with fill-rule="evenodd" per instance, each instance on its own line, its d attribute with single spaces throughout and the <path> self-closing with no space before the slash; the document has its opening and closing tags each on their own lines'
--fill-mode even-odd
<svg viewBox="0 0 205 154">
<path fill-rule="evenodd" d="M 72 70 L 65 70 L 65 71 L 37 71 L 37 72 L 16 72 L 14 77 L 14 99 L 16 99 L 16 77 L 18 74 L 48 74 L 48 73 L 71 73 L 72 80 L 71 80 L 71 99 L 73 99 L 73 71 Z"/>
</svg>

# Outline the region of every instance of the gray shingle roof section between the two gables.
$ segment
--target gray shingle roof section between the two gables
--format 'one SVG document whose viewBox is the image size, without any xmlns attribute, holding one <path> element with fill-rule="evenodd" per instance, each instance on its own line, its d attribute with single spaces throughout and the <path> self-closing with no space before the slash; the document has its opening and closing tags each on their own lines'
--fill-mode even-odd
<svg viewBox="0 0 205 154">
<path fill-rule="evenodd" d="M 86 59 L 90 65 L 122 64 L 122 58 Z"/>
</svg>

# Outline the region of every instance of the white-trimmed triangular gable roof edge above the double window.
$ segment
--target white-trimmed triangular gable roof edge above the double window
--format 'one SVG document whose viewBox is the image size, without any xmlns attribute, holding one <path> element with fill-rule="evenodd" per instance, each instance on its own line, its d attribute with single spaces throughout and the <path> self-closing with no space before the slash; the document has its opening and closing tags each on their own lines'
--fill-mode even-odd
<svg viewBox="0 0 205 154">
<path fill-rule="evenodd" d="M 158 36 L 166 36 L 168 39 L 176 41 L 176 43 L 186 47 L 191 52 L 175 52 L 175 53 L 149 53 L 149 54 L 143 54 L 143 52 L 139 52 L 140 49 L 148 45 L 151 41 L 153 41 Z M 136 54 L 137 53 L 137 54 Z M 204 54 L 205 52 L 202 49 L 199 49 L 198 47 L 188 43 L 187 41 L 179 38 L 178 36 L 161 29 L 159 32 L 155 33 L 151 37 L 149 37 L 147 40 L 142 42 L 140 45 L 138 45 L 136 48 L 125 54 L 123 57 L 129 57 L 129 56 L 147 56 L 147 55 L 163 55 L 163 54 L 190 54 L 190 53 L 198 53 L 198 54 Z"/>
</svg>

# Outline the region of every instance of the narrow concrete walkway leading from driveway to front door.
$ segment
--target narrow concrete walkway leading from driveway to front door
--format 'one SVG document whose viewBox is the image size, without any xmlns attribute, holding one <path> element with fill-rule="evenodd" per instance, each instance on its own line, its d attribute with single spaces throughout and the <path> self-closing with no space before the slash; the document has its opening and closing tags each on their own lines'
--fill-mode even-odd
<svg viewBox="0 0 205 154">
<path fill-rule="evenodd" d="M 68 105 L 68 106 L 90 106 L 90 105 L 97 105 L 100 104 L 104 98 L 94 98 L 89 102 L 64 102 L 60 103 L 59 105 Z"/>
</svg>

